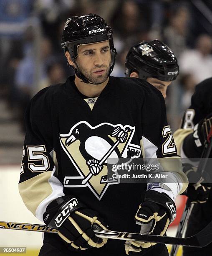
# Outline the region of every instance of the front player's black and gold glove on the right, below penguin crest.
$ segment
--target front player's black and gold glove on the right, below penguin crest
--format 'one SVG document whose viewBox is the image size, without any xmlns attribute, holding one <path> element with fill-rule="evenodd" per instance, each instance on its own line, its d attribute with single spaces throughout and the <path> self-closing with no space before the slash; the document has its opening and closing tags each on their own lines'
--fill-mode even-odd
<svg viewBox="0 0 212 256">
<path fill-rule="evenodd" d="M 136 213 L 135 220 L 139 225 L 151 223 L 150 234 L 163 236 L 169 224 L 176 217 L 176 206 L 172 199 L 165 193 L 148 190 L 141 198 L 142 203 Z M 127 255 L 145 255 L 151 251 L 151 246 L 156 243 L 127 241 L 125 251 Z"/>
</svg>

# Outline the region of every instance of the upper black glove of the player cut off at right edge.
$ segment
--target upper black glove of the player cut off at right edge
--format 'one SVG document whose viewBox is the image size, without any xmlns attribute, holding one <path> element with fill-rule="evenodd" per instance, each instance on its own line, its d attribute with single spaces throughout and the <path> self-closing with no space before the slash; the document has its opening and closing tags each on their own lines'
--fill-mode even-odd
<svg viewBox="0 0 212 256">
<path fill-rule="evenodd" d="M 206 116 L 206 118 L 199 121 L 198 125 L 194 126 L 194 132 L 189 134 L 183 143 L 183 151 L 188 158 L 200 158 L 210 128 L 212 126 L 212 113 Z"/>
</svg>

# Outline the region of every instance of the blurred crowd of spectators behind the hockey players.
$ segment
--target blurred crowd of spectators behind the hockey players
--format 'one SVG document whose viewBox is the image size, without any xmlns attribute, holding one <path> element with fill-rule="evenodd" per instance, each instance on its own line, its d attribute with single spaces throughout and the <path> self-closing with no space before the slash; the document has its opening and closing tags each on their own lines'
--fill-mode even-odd
<svg viewBox="0 0 212 256">
<path fill-rule="evenodd" d="M 36 92 L 73 74 L 61 49 L 72 15 L 96 13 L 111 25 L 118 55 L 112 75 L 124 77 L 130 47 L 164 41 L 177 56 L 179 77 L 166 104 L 172 131 L 197 83 L 212 76 L 210 0 L 0 0 L 0 163 L 21 161 L 24 111 Z"/>
</svg>

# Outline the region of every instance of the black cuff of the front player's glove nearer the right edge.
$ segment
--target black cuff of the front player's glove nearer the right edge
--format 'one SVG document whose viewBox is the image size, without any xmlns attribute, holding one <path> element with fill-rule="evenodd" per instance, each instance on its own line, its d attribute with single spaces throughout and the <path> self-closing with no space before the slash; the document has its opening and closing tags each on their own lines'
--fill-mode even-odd
<svg viewBox="0 0 212 256">
<path fill-rule="evenodd" d="M 167 210 L 170 222 L 172 223 L 174 221 L 176 217 L 176 206 L 174 201 L 166 193 L 148 190 L 142 194 L 141 201 L 150 201 L 162 205 Z"/>
</svg>

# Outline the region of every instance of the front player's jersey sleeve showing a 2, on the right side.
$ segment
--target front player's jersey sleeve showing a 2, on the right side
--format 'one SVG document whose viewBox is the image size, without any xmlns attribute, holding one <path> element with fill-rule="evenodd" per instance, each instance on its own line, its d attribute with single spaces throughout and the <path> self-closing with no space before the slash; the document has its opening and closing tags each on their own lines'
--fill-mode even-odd
<svg viewBox="0 0 212 256">
<path fill-rule="evenodd" d="M 168 175 L 166 185 L 175 197 L 186 189 L 187 177 L 182 172 L 181 159 L 177 155 L 172 131 L 167 123 L 166 106 L 161 92 L 146 93 L 141 113 L 143 155 L 145 159 L 158 159 L 163 174 Z M 151 189 L 153 186 L 154 184 L 148 184 L 147 188 Z"/>
</svg>

